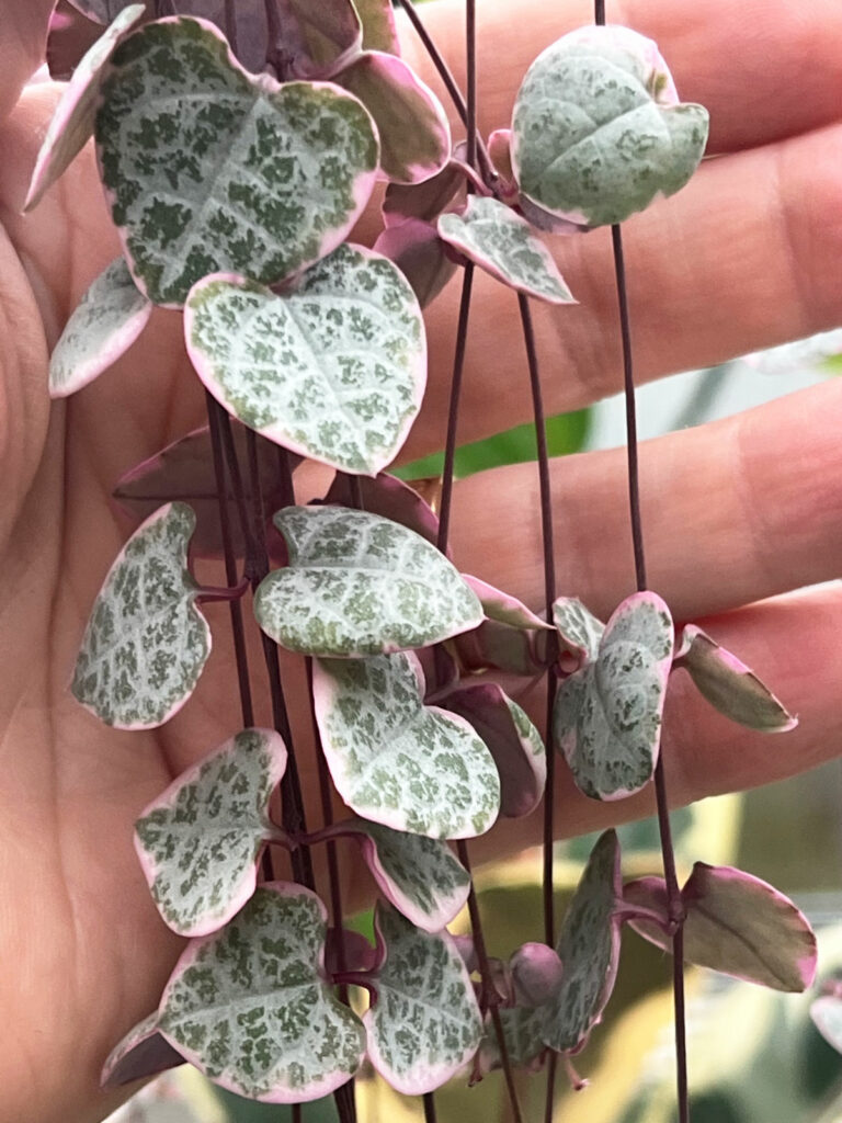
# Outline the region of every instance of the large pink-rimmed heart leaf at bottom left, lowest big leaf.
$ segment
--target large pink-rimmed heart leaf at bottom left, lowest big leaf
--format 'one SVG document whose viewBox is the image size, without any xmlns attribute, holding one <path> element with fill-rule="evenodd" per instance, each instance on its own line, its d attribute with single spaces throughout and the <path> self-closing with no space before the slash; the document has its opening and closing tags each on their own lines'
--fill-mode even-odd
<svg viewBox="0 0 842 1123">
<path fill-rule="evenodd" d="M 322 978 L 326 916 L 300 885 L 262 886 L 226 929 L 187 946 L 161 999 L 161 1032 L 249 1099 L 300 1103 L 345 1084 L 365 1034 Z"/>
</svg>

